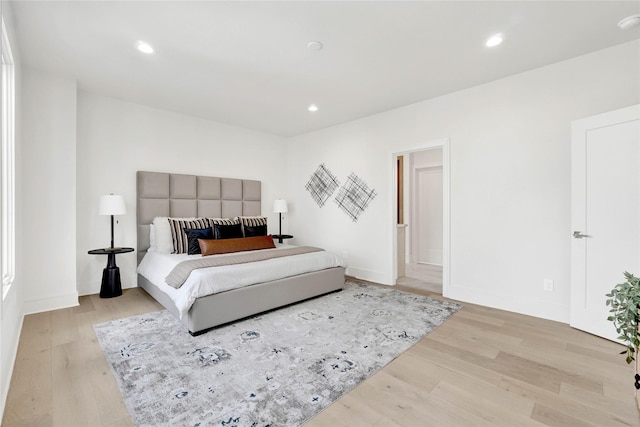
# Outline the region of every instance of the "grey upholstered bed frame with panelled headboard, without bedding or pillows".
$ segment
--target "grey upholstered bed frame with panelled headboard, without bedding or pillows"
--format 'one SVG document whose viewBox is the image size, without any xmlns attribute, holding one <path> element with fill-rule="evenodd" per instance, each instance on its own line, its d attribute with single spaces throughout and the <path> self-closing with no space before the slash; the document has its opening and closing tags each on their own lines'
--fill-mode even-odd
<svg viewBox="0 0 640 427">
<path fill-rule="evenodd" d="M 151 245 L 151 224 L 156 217 L 235 218 L 261 215 L 261 182 L 161 172 L 137 172 L 137 253 L 143 263 Z M 279 245 L 278 245 L 279 246 Z M 153 251 L 149 251 L 149 259 Z M 155 254 L 153 254 L 155 255 Z M 259 261 L 271 265 L 274 260 Z M 155 261 L 154 261 L 155 262 Z M 279 261 L 281 262 L 281 261 Z M 277 262 L 275 262 L 277 264 Z M 258 263 L 255 270 L 260 270 Z M 341 262 L 299 274 L 274 276 L 240 288 L 198 296 L 188 310 L 176 303 L 172 291 L 151 274 L 138 274 L 138 286 L 182 321 L 192 335 L 234 320 L 252 316 L 305 299 L 341 290 L 345 268 Z M 306 267 L 305 267 L 306 268 Z M 301 270 L 303 271 L 303 270 Z M 293 274 L 293 275 L 292 275 Z M 275 278 L 274 278 L 275 277 Z"/>
</svg>

